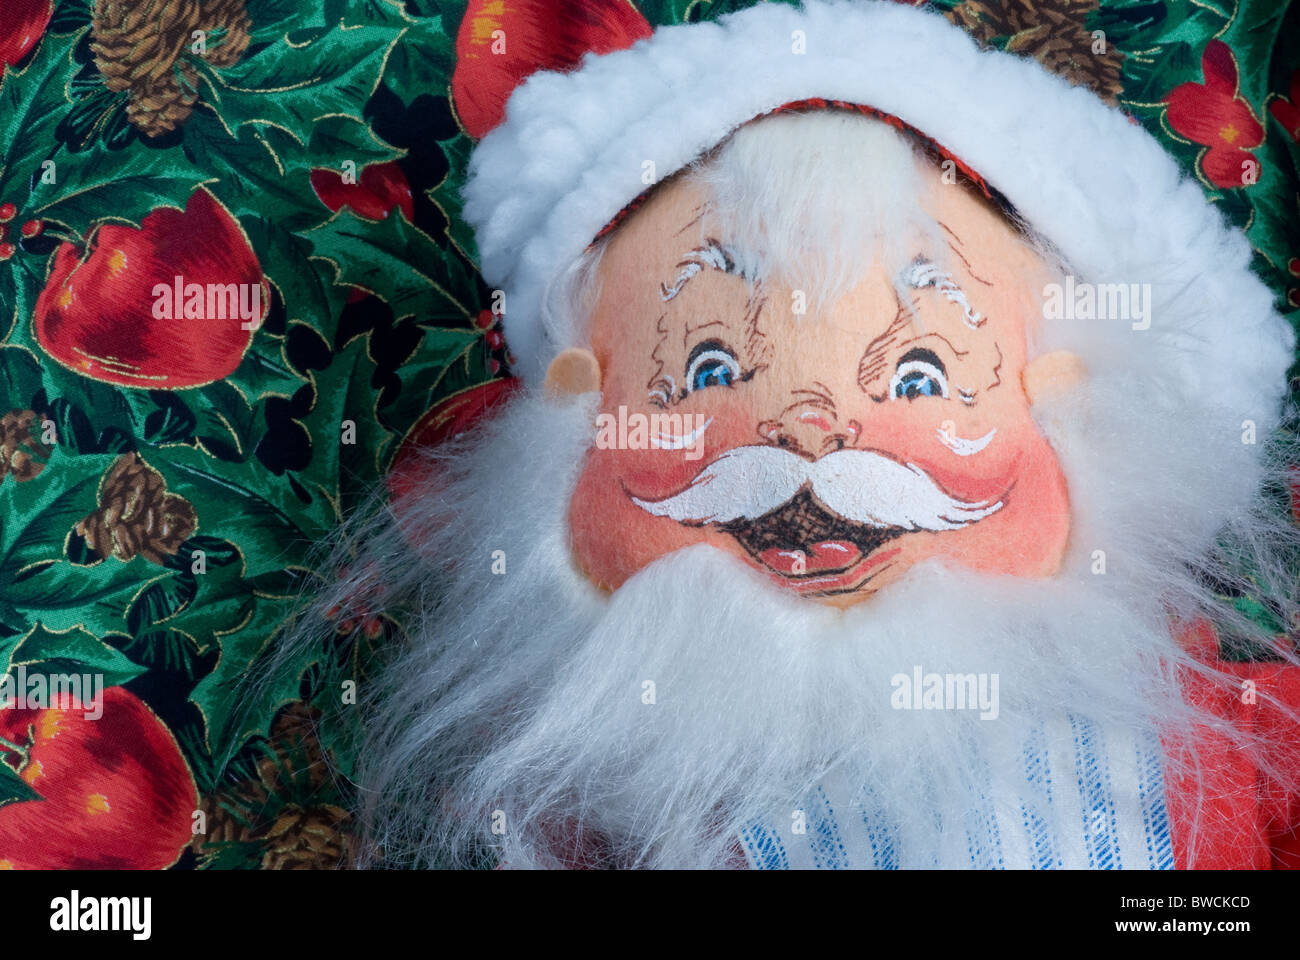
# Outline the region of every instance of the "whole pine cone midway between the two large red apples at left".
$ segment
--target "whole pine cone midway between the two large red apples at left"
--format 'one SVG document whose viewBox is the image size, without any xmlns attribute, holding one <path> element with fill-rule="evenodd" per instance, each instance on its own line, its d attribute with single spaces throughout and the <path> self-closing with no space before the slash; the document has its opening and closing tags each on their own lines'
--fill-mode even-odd
<svg viewBox="0 0 1300 960">
<path fill-rule="evenodd" d="M 136 453 L 118 457 L 104 476 L 99 510 L 77 524 L 86 545 L 103 557 L 151 563 L 174 555 L 198 526 L 194 505 L 166 492 L 162 475 Z"/>
</svg>

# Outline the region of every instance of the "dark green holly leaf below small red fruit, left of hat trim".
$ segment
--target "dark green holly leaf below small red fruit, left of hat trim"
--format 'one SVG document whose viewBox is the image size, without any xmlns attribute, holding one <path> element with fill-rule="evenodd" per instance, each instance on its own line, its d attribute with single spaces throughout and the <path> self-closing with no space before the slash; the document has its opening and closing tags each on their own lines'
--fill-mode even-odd
<svg viewBox="0 0 1300 960">
<path fill-rule="evenodd" d="M 312 256 L 333 265 L 335 284 L 376 294 L 398 320 L 420 316 L 463 323 L 472 316 L 473 274 L 452 250 L 438 246 L 396 211 L 376 222 L 344 207 L 306 235 Z"/>
</svg>

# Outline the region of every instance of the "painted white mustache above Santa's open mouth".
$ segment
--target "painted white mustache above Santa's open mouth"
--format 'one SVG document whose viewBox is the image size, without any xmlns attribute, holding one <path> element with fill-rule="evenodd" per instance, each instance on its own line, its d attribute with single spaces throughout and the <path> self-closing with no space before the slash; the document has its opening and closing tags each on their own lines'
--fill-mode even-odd
<svg viewBox="0 0 1300 960">
<path fill-rule="evenodd" d="M 729 523 L 770 514 L 805 487 L 828 510 L 870 527 L 961 529 L 1002 509 L 1002 501 L 958 500 L 914 463 L 902 464 L 870 450 L 836 450 L 809 462 L 763 445 L 728 450 L 672 497 L 632 497 L 632 502 L 679 523 Z"/>
</svg>

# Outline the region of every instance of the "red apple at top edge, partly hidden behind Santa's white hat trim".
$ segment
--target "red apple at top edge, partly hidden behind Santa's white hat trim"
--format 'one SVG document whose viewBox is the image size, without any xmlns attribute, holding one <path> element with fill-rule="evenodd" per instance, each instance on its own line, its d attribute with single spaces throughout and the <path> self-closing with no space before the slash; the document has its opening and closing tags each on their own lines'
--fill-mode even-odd
<svg viewBox="0 0 1300 960">
<path fill-rule="evenodd" d="M 650 34 L 629 0 L 469 0 L 451 75 L 460 124 L 482 139 L 529 74 L 568 70 L 585 53 L 610 53 Z"/>
</svg>

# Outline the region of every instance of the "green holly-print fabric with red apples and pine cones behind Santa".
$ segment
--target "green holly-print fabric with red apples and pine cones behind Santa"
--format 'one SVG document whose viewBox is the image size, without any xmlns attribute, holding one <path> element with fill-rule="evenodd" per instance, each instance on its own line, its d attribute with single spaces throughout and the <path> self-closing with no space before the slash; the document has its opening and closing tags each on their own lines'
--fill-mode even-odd
<svg viewBox="0 0 1300 960">
<path fill-rule="evenodd" d="M 935 5 L 1143 124 L 1296 317 L 1296 9 Z M 459 216 L 482 118 L 452 90 L 473 88 L 493 29 L 563 5 L 473 7 L 462 30 L 465 4 L 436 0 L 4 0 L 0 669 L 10 689 L 107 689 L 99 719 L 0 710 L 0 869 L 350 859 L 343 692 L 400 624 L 339 623 L 246 678 L 311 585 L 313 542 L 508 389 Z M 541 38 L 556 49 L 584 16 L 567 7 Z M 187 298 L 160 317 L 155 287 L 177 276 L 242 285 L 260 324 Z"/>
</svg>

